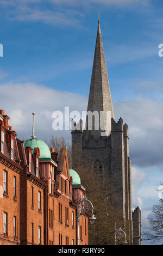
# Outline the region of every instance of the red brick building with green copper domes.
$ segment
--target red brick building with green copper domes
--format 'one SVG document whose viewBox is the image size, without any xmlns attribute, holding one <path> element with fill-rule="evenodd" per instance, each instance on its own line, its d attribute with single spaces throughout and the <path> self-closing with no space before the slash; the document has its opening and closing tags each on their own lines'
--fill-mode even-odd
<svg viewBox="0 0 163 256">
<path fill-rule="evenodd" d="M 0 245 L 76 245 L 77 202 L 85 196 L 67 151 L 32 136 L 17 139 L 0 111 Z M 80 245 L 88 244 L 88 217 L 80 212 Z"/>
</svg>

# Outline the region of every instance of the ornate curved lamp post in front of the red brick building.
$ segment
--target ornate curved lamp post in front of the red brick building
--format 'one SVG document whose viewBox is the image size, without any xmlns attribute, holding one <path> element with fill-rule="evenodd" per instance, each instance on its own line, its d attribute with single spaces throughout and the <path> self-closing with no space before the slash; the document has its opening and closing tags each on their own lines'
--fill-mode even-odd
<svg viewBox="0 0 163 256">
<path fill-rule="evenodd" d="M 77 204 L 77 245 L 80 245 L 80 239 L 79 239 L 79 221 L 80 221 L 80 212 L 79 212 L 79 209 L 80 209 L 80 206 L 83 205 L 84 206 L 84 203 L 88 202 L 91 206 L 91 211 L 92 211 L 92 214 L 91 216 L 89 217 L 89 221 L 91 224 L 94 224 L 95 221 L 96 221 L 96 217 L 95 215 L 93 214 L 93 205 L 91 203 L 90 200 L 88 200 L 86 197 L 83 197 L 83 200 L 80 200 Z"/>
</svg>

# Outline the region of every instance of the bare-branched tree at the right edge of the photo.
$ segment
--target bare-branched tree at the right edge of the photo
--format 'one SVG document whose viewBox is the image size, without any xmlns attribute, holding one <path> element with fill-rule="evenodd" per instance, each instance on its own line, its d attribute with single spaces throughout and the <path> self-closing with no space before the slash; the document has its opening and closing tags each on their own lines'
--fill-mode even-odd
<svg viewBox="0 0 163 256">
<path fill-rule="evenodd" d="M 148 218 L 149 228 L 143 232 L 143 240 L 151 243 L 159 242 L 163 239 L 163 200 L 160 199 L 158 204 L 153 205 L 153 217 Z"/>
</svg>

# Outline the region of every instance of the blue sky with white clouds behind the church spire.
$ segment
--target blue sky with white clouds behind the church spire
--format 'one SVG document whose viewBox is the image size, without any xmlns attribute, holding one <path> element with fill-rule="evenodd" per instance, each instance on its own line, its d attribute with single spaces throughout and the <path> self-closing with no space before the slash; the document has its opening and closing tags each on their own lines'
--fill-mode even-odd
<svg viewBox="0 0 163 256">
<path fill-rule="evenodd" d="M 129 125 L 133 207 L 143 226 L 158 200 L 163 145 L 163 2 L 159 0 L 0 0 L 1 108 L 18 137 L 70 139 L 52 130 L 52 112 L 86 110 L 98 13 L 116 120 Z M 45 132 L 46 131 L 46 132 Z"/>
</svg>

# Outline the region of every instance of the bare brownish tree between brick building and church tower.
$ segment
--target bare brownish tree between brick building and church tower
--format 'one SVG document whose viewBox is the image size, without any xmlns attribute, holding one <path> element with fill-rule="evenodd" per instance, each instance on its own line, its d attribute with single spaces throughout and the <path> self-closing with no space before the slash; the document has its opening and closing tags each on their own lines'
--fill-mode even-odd
<svg viewBox="0 0 163 256">
<path fill-rule="evenodd" d="M 124 229 L 124 227 L 121 209 L 118 207 L 115 209 L 111 204 L 111 201 L 117 200 L 114 188 L 111 186 L 111 178 L 105 171 L 102 175 L 93 172 L 78 147 L 73 149 L 72 165 L 71 146 L 64 137 L 51 136 L 50 142 L 50 147 L 53 147 L 57 153 L 61 148 L 67 148 L 69 166 L 79 174 L 81 184 L 86 190 L 86 197 L 95 208 L 93 213 L 97 221 L 93 225 L 89 224 L 89 245 L 114 245 L 115 223 L 118 228 Z"/>
</svg>

